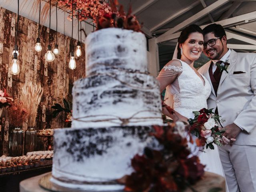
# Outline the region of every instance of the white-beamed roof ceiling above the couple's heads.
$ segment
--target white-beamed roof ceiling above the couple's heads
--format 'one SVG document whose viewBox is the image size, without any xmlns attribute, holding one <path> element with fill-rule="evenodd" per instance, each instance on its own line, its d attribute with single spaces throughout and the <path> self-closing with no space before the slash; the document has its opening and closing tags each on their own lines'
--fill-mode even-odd
<svg viewBox="0 0 256 192">
<path fill-rule="evenodd" d="M 143 30 L 156 37 L 160 66 L 171 58 L 180 31 L 189 24 L 202 28 L 211 23 L 224 26 L 228 46 L 237 52 L 256 52 L 256 0 L 119 0 L 132 4 Z"/>
</svg>

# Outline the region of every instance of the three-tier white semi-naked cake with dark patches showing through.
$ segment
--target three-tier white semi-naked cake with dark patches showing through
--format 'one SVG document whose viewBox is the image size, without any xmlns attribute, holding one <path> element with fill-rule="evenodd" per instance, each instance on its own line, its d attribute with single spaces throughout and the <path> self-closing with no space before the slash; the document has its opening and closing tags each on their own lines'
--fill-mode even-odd
<svg viewBox="0 0 256 192">
<path fill-rule="evenodd" d="M 74 82 L 72 128 L 54 133 L 54 184 L 113 191 L 132 172 L 152 125 L 162 125 L 160 90 L 148 74 L 146 38 L 107 28 L 86 39 L 86 78 Z"/>
</svg>

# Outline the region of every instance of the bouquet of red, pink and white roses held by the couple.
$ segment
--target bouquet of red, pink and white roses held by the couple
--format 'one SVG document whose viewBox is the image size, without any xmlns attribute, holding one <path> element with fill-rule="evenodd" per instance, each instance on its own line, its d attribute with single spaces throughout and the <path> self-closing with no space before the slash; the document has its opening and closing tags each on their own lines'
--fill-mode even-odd
<svg viewBox="0 0 256 192">
<path fill-rule="evenodd" d="M 189 131 L 191 134 L 198 137 L 196 139 L 197 146 L 202 146 L 202 151 L 204 151 L 204 146 L 206 144 L 206 149 L 214 149 L 213 143 L 222 146 L 222 134 L 225 132 L 219 129 L 220 116 L 214 114 L 212 109 L 207 110 L 206 108 L 201 109 L 200 111 L 193 111 L 195 118 L 189 119 L 190 128 Z"/>
</svg>

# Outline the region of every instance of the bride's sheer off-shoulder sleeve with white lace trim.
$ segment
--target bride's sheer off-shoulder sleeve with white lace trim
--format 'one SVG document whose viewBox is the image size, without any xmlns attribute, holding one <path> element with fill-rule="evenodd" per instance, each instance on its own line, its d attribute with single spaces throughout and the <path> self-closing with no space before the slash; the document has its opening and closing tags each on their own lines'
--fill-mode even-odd
<svg viewBox="0 0 256 192">
<path fill-rule="evenodd" d="M 158 74 L 158 78 L 159 77 L 169 77 L 169 76 L 174 76 L 177 74 L 180 74 L 182 72 L 182 65 L 180 62 L 173 62 L 170 61 L 168 62 L 160 71 L 160 73 Z"/>
</svg>

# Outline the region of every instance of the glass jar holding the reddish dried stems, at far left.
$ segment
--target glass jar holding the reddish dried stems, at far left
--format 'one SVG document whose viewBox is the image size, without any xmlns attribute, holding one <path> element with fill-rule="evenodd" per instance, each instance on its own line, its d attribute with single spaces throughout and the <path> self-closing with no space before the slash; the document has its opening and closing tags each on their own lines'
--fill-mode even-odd
<svg viewBox="0 0 256 192">
<path fill-rule="evenodd" d="M 22 156 L 23 152 L 23 130 L 20 127 L 15 127 L 10 132 L 9 150 L 11 156 Z"/>
</svg>

